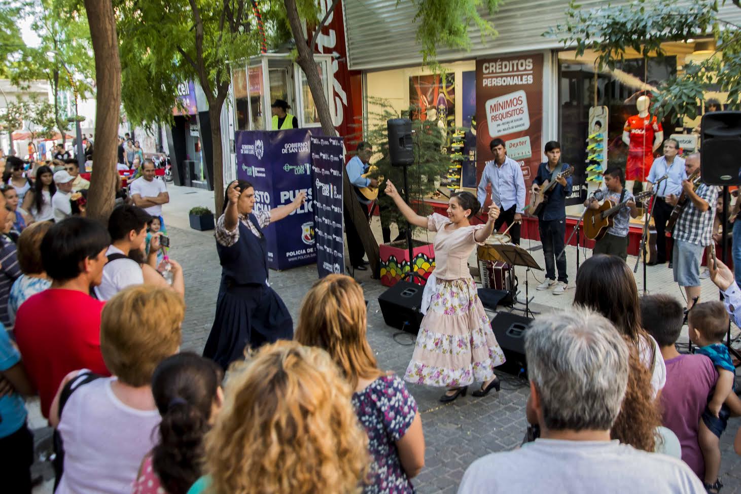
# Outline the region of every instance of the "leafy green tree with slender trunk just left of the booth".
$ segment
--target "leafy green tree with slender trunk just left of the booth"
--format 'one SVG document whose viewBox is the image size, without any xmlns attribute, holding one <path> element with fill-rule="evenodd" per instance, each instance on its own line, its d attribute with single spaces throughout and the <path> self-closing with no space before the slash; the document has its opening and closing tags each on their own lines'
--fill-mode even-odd
<svg viewBox="0 0 741 494">
<path fill-rule="evenodd" d="M 274 2 L 257 1 L 275 36 Z M 262 33 L 250 0 L 117 1 L 122 101 L 133 124 L 173 121 L 177 88 L 197 81 L 205 93 L 213 141 L 216 210 L 224 198 L 220 115 L 230 85 L 230 64 L 260 53 Z M 283 16 L 285 17 L 285 16 Z M 282 29 L 285 33 L 285 27 Z"/>
</svg>

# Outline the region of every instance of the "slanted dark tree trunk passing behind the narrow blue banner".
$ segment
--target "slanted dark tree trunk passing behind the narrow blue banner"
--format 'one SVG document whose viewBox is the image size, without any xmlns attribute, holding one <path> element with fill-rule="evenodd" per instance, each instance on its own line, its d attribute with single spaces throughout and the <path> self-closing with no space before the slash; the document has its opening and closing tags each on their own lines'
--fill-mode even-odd
<svg viewBox="0 0 741 494">
<path fill-rule="evenodd" d="M 293 39 L 296 41 L 296 50 L 299 52 L 296 63 L 299 64 L 299 67 L 302 68 L 306 75 L 306 81 L 309 85 L 311 96 L 313 96 L 316 111 L 319 113 L 319 121 L 322 122 L 322 131 L 327 136 L 337 136 L 337 131 L 332 123 L 332 113 L 329 109 L 329 103 L 325 98 L 324 87 L 322 87 L 322 78 L 319 77 L 319 70 L 316 68 L 313 51 L 304 36 L 301 19 L 299 19 L 299 11 L 296 8 L 296 0 L 284 0 L 284 4 L 288 21 L 290 22 L 290 30 L 293 32 Z M 321 26 L 317 27 L 317 29 L 321 29 Z M 368 255 L 368 262 L 371 263 L 373 277 L 379 278 L 381 274 L 381 261 L 378 242 L 373 236 L 371 225 L 368 223 L 365 212 L 351 193 L 353 189 L 345 167 L 342 167 L 342 170 L 342 204 L 350 213 L 350 220 L 355 225 L 365 253 Z"/>
</svg>

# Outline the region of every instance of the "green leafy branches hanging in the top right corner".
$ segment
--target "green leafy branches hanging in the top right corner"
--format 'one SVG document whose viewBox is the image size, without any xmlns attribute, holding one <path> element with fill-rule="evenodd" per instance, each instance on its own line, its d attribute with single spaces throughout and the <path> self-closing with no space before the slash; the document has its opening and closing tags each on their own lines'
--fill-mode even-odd
<svg viewBox="0 0 741 494">
<path fill-rule="evenodd" d="M 717 50 L 701 63 L 685 64 L 676 76 L 662 81 L 653 91 L 651 113 L 662 119 L 674 111 L 694 119 L 697 102 L 713 84 L 728 92 L 731 108 L 741 108 L 741 29 L 719 19 L 717 0 L 697 0 L 682 6 L 681 12 L 671 0 L 634 0 L 621 7 L 593 9 L 582 9 L 572 0 L 565 24 L 552 27 L 544 36 L 558 38 L 565 47 L 575 49 L 577 56 L 594 50 L 598 70 L 613 70 L 625 61 L 628 49 L 647 59 L 664 55 L 662 43 L 666 41 L 712 36 Z"/>
</svg>

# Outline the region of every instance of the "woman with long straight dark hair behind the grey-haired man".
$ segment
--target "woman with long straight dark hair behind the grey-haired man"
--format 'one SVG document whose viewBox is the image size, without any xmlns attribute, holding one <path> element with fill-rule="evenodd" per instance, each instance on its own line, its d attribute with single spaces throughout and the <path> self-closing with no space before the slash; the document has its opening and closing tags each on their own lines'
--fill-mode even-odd
<svg viewBox="0 0 741 494">
<path fill-rule="evenodd" d="M 628 264 L 616 256 L 591 256 L 576 273 L 574 305 L 596 310 L 608 318 L 639 352 L 651 372 L 652 398 L 666 384 L 666 366 L 659 344 L 641 325 L 636 280 Z"/>
</svg>

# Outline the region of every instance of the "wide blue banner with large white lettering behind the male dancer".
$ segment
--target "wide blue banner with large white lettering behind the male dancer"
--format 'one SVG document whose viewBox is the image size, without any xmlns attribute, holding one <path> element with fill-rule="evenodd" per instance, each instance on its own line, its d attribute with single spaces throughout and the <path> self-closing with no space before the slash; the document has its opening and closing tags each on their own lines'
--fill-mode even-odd
<svg viewBox="0 0 741 494">
<path fill-rule="evenodd" d="M 255 212 L 289 204 L 299 192 L 306 202 L 265 227 L 268 267 L 286 270 L 316 261 L 310 131 L 239 130 L 234 133 L 237 177 L 255 187 Z"/>
</svg>

